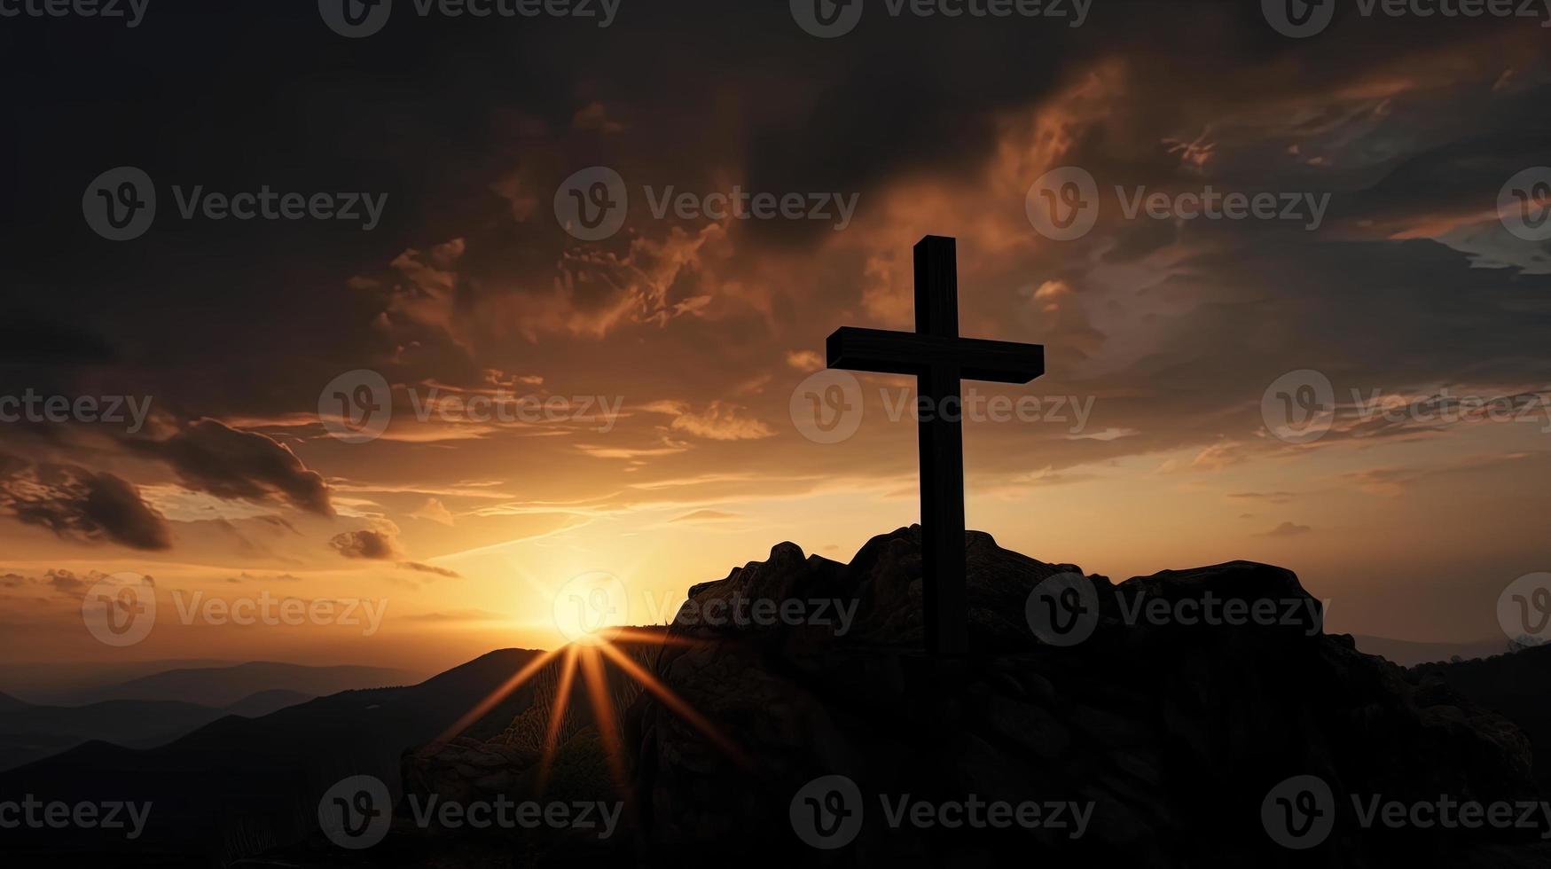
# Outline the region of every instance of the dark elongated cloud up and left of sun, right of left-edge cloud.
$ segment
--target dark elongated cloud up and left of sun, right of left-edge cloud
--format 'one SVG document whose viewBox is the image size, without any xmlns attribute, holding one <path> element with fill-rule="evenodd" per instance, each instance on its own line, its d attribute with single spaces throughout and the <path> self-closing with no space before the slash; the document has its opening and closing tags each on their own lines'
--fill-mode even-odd
<svg viewBox="0 0 1551 869">
<path fill-rule="evenodd" d="M 254 503 L 279 497 L 301 511 L 333 515 L 323 475 L 307 470 L 290 447 L 265 434 L 200 419 L 163 441 L 129 444 L 172 466 L 191 489 Z"/>
</svg>

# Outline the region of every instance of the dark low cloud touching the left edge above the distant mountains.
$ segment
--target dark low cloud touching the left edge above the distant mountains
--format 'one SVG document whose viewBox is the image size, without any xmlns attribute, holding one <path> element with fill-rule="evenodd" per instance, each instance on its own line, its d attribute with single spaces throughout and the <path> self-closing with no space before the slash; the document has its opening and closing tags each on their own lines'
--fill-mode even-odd
<svg viewBox="0 0 1551 869">
<path fill-rule="evenodd" d="M 67 464 L 29 464 L 0 453 L 0 507 L 62 538 L 112 540 L 132 549 L 172 548 L 166 518 L 130 483 Z"/>
</svg>

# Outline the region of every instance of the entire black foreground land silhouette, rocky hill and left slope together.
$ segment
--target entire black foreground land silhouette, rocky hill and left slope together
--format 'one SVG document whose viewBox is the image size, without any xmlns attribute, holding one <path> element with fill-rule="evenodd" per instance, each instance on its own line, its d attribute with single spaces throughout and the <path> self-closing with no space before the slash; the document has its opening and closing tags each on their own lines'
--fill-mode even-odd
<svg viewBox="0 0 1551 869">
<path fill-rule="evenodd" d="M 3 793 L 135 795 L 155 799 L 158 815 L 132 847 L 33 833 L 0 849 L 37 857 L 62 847 L 116 864 L 307 867 L 734 858 L 1517 867 L 1551 860 L 1542 830 L 1379 829 L 1359 822 L 1352 802 L 1363 795 L 1539 801 L 1531 740 L 1509 717 L 1534 712 L 1537 697 L 1512 686 L 1543 673 L 1545 655 L 1405 670 L 1357 652 L 1349 636 L 1325 635 L 1318 602 L 1281 568 L 1231 562 L 1112 583 L 1010 552 L 979 532 L 966 535 L 966 548 L 968 655 L 918 650 L 918 529 L 875 537 L 850 563 L 782 543 L 765 562 L 692 587 L 675 622 L 633 655 L 713 732 L 656 692 L 631 689 L 616 670 L 605 686 L 613 715 L 579 705 L 586 692 L 572 687 L 554 770 L 541 776 L 544 722 L 565 684 L 558 663 L 448 732 L 537 655 L 495 652 L 417 686 L 223 718 L 152 751 L 92 743 L 3 773 Z M 1090 605 L 1086 638 L 1048 635 L 1038 607 L 1048 588 Z M 805 615 L 707 618 L 757 611 L 738 608 L 751 601 L 800 601 L 788 611 Z M 844 630 L 833 618 L 814 618 L 822 601 L 833 604 L 830 613 L 848 613 Z M 1273 618 L 1179 618 L 1213 602 Z M 1486 706 L 1487 698 L 1500 706 Z M 610 732 L 617 732 L 625 781 L 608 791 L 628 805 L 614 840 L 413 821 L 411 802 L 428 796 L 597 795 L 608 785 Z M 344 852 L 320 833 L 318 801 L 355 774 L 382 777 L 397 805 L 382 844 Z M 872 799 L 851 840 L 814 850 L 802 818 L 824 802 L 800 796 L 833 776 Z M 1270 835 L 1263 805 L 1275 805 L 1273 791 L 1300 776 L 1331 790 L 1334 827 L 1292 850 Z M 890 795 L 927 805 L 971 795 L 1086 807 L 1086 819 L 1083 835 L 890 824 L 879 808 Z"/>
</svg>

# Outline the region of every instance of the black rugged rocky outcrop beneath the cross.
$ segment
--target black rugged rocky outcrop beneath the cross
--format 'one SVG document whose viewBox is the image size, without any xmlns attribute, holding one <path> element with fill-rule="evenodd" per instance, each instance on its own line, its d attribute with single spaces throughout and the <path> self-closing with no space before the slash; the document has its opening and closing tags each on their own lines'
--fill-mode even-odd
<svg viewBox="0 0 1551 869">
<path fill-rule="evenodd" d="M 1031 627 L 1030 599 L 1045 580 L 1086 587 L 1083 601 L 1097 605 L 1081 642 L 1056 646 Z M 740 751 L 718 750 L 650 695 L 636 703 L 628 722 L 650 847 L 830 864 L 1543 864 L 1539 833 L 1526 830 L 1359 821 L 1352 798 L 1371 795 L 1539 799 L 1529 748 L 1506 720 L 1325 635 L 1318 602 L 1286 570 L 1235 562 L 1114 585 L 971 532 L 968 582 L 974 649 L 962 658 L 918 650 L 915 528 L 873 538 L 850 565 L 782 543 L 766 562 L 692 588 L 656 675 Z M 757 610 L 760 601 L 776 610 Z M 794 815 L 817 810 L 794 808 L 794 798 L 825 776 L 844 776 L 862 805 L 855 838 L 828 850 L 803 841 Z M 1263 818 L 1295 776 L 1328 784 L 1334 813 L 1329 835 L 1304 849 L 1273 841 Z M 883 804 L 901 795 L 1092 815 L 1079 836 L 892 826 Z"/>
</svg>

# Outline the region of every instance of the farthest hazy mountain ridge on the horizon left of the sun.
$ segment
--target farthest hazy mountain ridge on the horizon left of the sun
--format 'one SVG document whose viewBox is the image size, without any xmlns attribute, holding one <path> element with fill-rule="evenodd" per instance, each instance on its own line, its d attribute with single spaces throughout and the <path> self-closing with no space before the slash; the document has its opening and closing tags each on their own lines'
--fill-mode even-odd
<svg viewBox="0 0 1551 869">
<path fill-rule="evenodd" d="M 386 667 L 307 667 L 256 661 L 234 667 L 166 670 L 78 694 L 78 703 L 104 700 L 175 700 L 225 708 L 265 691 L 326 697 L 341 691 L 413 684 L 420 677 Z"/>
</svg>

